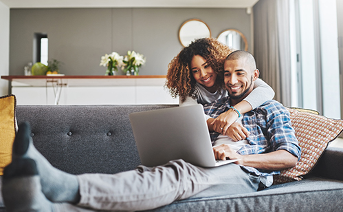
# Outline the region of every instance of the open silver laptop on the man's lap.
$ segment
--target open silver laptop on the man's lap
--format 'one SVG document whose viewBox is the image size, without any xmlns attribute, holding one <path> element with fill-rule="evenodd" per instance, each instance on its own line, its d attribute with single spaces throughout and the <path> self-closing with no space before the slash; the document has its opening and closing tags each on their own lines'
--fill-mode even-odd
<svg viewBox="0 0 343 212">
<path fill-rule="evenodd" d="M 215 160 L 202 105 L 171 107 L 129 115 L 142 165 L 155 167 L 183 159 L 199 167 L 237 160 Z"/>
</svg>

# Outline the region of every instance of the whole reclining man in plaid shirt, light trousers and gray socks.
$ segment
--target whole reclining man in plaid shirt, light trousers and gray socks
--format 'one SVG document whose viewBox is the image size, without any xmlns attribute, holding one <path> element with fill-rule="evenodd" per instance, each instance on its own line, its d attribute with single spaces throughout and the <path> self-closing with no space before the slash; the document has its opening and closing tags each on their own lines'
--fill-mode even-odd
<svg viewBox="0 0 343 212">
<path fill-rule="evenodd" d="M 214 117 L 249 94 L 258 76 L 256 68 L 252 70 L 245 65 L 245 60 L 251 55 L 238 53 L 230 54 L 225 62 L 225 84 L 232 98 L 206 106 L 206 112 Z M 259 120 L 257 125 L 245 125 L 245 117 L 248 120 L 253 117 L 245 114 L 243 125 L 236 127 L 239 131 L 247 128 L 251 133 L 242 150 L 236 153 L 233 150 L 235 145 L 230 146 L 227 142 L 214 147 L 216 158 L 241 160 L 237 164 L 214 168 L 196 167 L 184 160 L 173 160 L 163 166 L 140 166 L 114 175 L 74 176 L 47 162 L 34 148 L 29 136 L 30 127 L 23 123 L 14 140 L 12 163 L 5 167 L 3 175 L 6 209 L 9 212 L 136 211 L 154 209 L 175 200 L 205 197 L 212 192 L 228 195 L 257 191 L 261 184 L 270 184 L 270 177 L 277 173 L 276 170 L 293 167 L 300 158 L 300 147 L 289 125 L 287 110 L 274 101 L 266 105 L 253 112 Z M 214 122 L 214 125 L 220 125 L 220 121 Z M 223 128 L 214 125 L 210 125 L 210 129 Z M 216 138 L 218 135 L 214 132 L 214 142 L 221 140 Z M 269 171 L 263 171 L 265 169 Z"/>
</svg>

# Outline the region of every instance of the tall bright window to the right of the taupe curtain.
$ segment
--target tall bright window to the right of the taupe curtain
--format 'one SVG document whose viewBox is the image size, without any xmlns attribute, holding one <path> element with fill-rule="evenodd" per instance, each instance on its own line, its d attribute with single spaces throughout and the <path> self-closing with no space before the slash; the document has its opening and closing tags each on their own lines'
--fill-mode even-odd
<svg viewBox="0 0 343 212">
<path fill-rule="evenodd" d="M 296 97 L 292 105 L 341 118 L 338 25 L 335 0 L 294 0 L 291 52 Z"/>
</svg>

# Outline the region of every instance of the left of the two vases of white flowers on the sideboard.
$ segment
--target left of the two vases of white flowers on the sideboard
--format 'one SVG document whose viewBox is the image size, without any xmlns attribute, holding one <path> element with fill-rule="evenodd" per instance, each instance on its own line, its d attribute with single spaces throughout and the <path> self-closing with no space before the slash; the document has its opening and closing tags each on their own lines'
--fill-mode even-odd
<svg viewBox="0 0 343 212">
<path fill-rule="evenodd" d="M 118 72 L 118 67 L 122 67 L 122 65 L 124 65 L 123 56 L 120 56 L 117 52 L 105 54 L 101 57 L 100 65 L 107 66 L 105 75 L 113 76 Z"/>
</svg>

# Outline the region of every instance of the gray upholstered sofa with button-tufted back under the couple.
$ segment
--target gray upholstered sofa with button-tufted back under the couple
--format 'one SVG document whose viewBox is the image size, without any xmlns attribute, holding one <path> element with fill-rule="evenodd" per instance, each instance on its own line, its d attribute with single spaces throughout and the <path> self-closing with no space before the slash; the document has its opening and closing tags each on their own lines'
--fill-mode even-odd
<svg viewBox="0 0 343 212">
<path fill-rule="evenodd" d="M 140 165 L 129 114 L 175 106 L 21 105 L 16 117 L 19 123 L 30 123 L 34 145 L 58 169 L 118 173 Z M 5 211 L 1 196 L 0 211 Z M 190 198 L 153 211 L 343 211 L 343 149 L 329 147 L 298 182 L 255 193 Z"/>
</svg>

